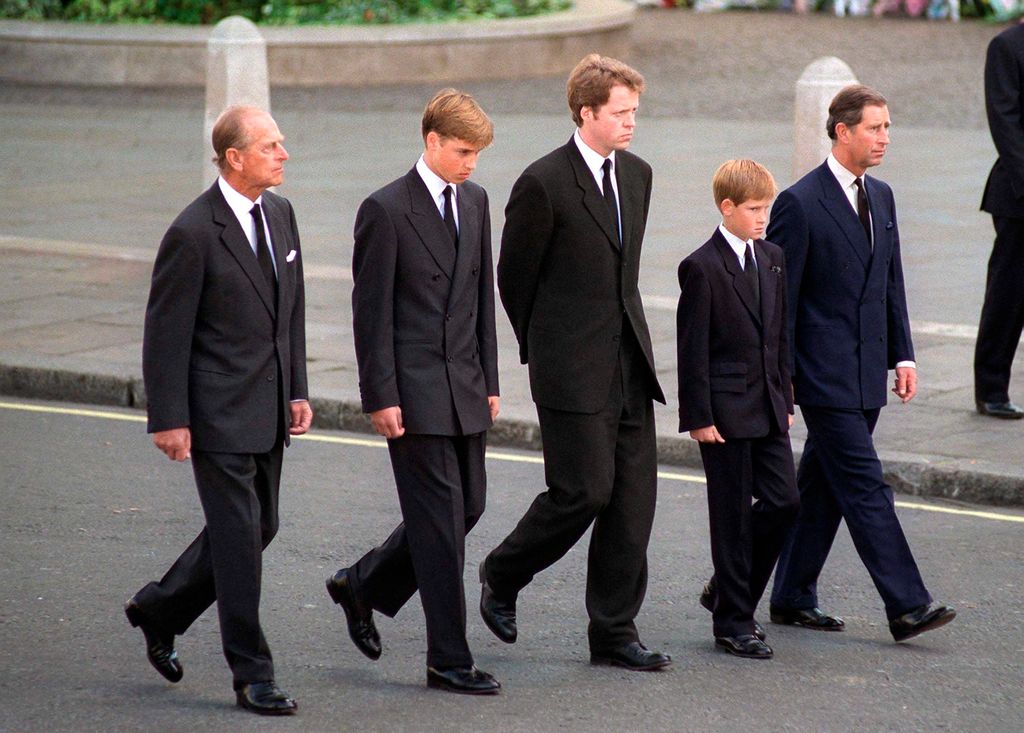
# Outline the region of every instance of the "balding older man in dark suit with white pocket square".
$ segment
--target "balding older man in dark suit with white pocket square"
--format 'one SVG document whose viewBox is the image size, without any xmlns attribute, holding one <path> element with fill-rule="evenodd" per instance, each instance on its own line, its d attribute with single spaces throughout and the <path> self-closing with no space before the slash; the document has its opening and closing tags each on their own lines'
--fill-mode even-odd
<svg viewBox="0 0 1024 733">
<path fill-rule="evenodd" d="M 288 153 L 273 119 L 226 110 L 213 128 L 220 176 L 164 235 L 142 342 L 148 431 L 191 459 L 206 527 L 159 583 L 125 606 L 171 682 L 174 637 L 214 601 L 239 705 L 291 715 L 259 623 L 262 551 L 278 531 L 289 435 L 309 428 L 305 298 L 295 213 L 267 190 Z"/>
</svg>

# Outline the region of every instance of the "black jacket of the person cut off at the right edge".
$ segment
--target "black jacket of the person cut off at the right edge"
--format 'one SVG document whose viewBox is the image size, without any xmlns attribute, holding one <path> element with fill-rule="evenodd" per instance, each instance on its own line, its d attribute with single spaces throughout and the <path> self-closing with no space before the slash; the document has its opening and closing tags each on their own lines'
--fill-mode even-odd
<svg viewBox="0 0 1024 733">
<path fill-rule="evenodd" d="M 999 157 L 988 174 L 981 209 L 1024 218 L 1024 26 L 1007 29 L 988 44 L 985 111 Z"/>
</svg>

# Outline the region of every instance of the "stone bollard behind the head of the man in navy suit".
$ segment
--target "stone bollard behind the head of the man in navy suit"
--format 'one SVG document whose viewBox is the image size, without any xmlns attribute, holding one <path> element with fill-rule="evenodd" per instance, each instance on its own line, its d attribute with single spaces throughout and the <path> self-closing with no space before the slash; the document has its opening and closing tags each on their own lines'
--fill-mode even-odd
<svg viewBox="0 0 1024 733">
<path fill-rule="evenodd" d="M 846 61 L 822 56 L 807 64 L 797 81 L 796 124 L 794 126 L 793 177 L 799 179 L 828 157 L 831 140 L 825 134 L 828 103 L 857 78 Z"/>
</svg>

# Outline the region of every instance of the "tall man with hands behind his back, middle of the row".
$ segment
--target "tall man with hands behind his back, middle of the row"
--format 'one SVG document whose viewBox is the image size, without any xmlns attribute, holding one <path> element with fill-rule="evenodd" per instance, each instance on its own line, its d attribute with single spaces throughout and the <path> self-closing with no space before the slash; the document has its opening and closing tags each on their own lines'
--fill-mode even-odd
<svg viewBox="0 0 1024 733">
<path fill-rule="evenodd" d="M 650 166 L 626 152 L 643 77 L 591 54 L 569 76 L 577 131 L 531 164 L 505 209 L 502 303 L 529 368 L 548 490 L 480 566 L 480 612 L 517 636 L 516 598 L 593 525 L 587 572 L 591 660 L 667 666 L 634 618 L 647 587 L 664 402 L 637 289 Z"/>
</svg>

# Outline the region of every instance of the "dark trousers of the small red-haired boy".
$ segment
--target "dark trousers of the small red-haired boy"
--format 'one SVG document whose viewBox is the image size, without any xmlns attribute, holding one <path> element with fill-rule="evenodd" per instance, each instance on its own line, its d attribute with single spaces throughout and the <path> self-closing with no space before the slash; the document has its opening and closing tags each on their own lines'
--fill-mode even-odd
<svg viewBox="0 0 1024 733">
<path fill-rule="evenodd" d="M 790 436 L 700 443 L 700 458 L 715 564 L 715 636 L 754 634 L 754 611 L 800 508 Z"/>
</svg>

